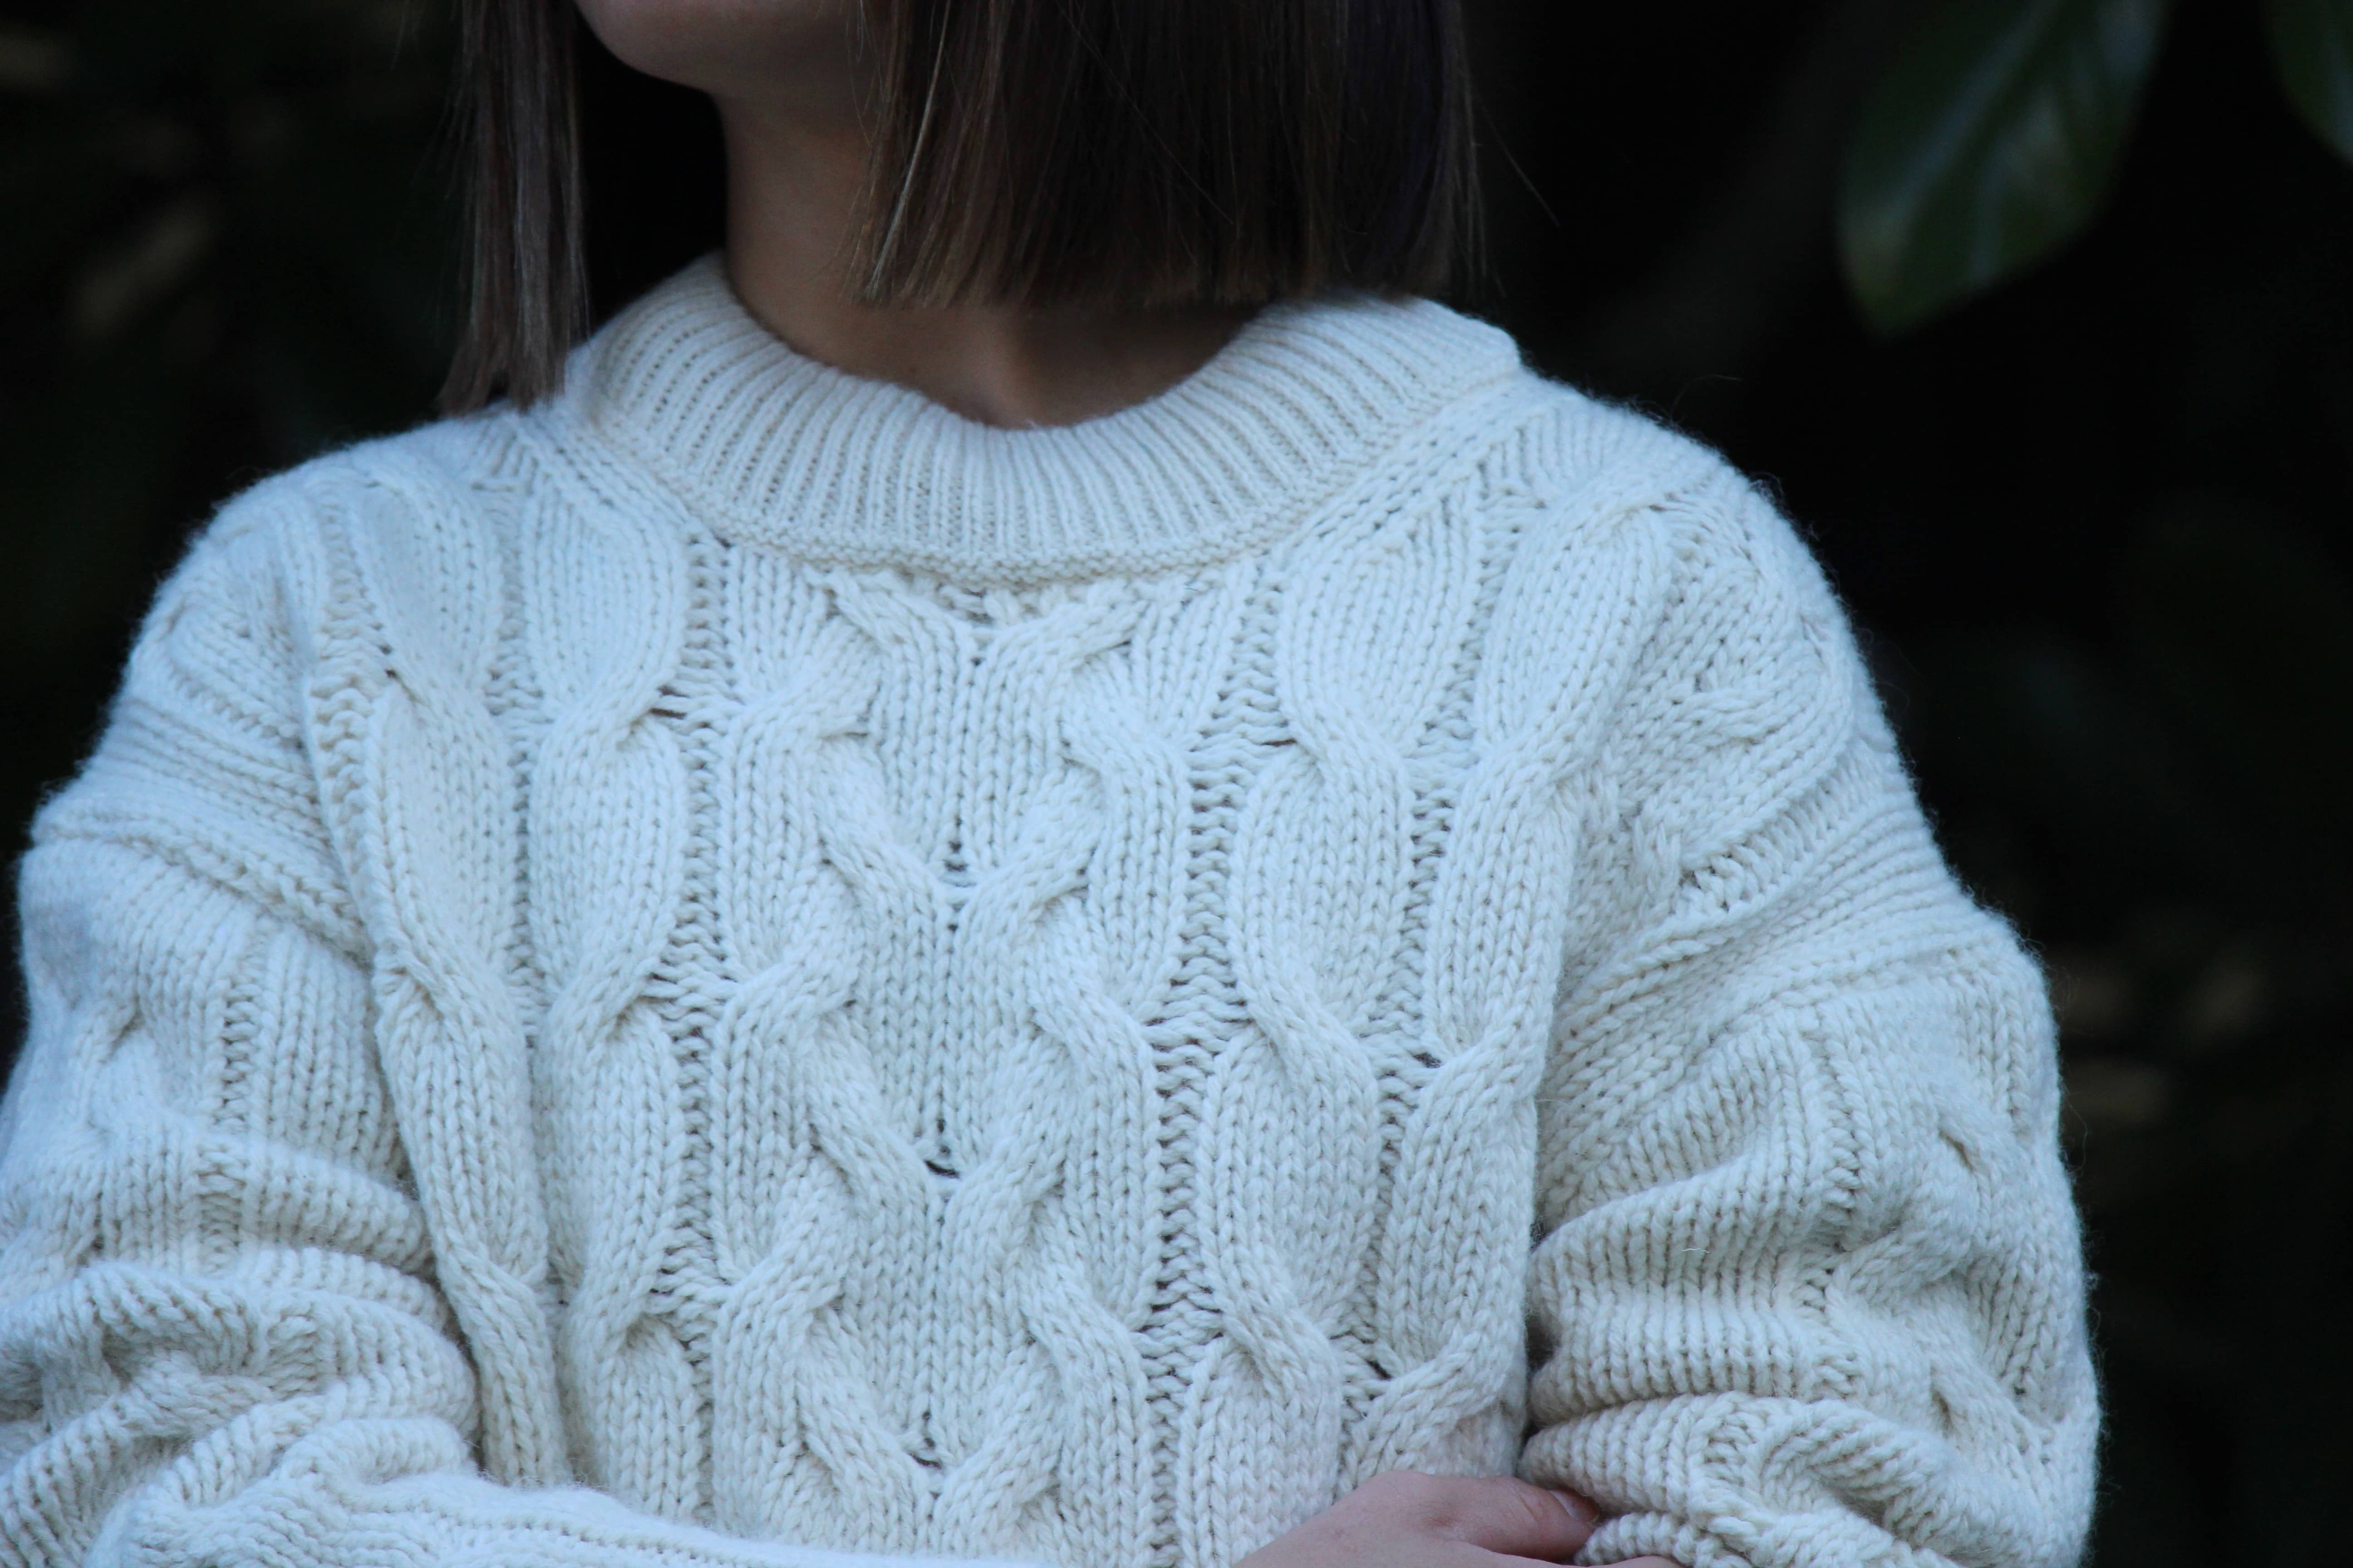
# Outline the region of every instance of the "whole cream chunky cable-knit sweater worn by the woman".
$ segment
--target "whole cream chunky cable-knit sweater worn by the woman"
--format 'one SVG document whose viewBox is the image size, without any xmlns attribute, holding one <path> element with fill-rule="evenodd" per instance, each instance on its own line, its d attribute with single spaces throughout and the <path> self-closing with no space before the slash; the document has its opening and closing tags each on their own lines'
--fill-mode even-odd
<svg viewBox="0 0 2353 1568">
<path fill-rule="evenodd" d="M 2033 964 L 1774 508 L 1433 303 L 993 430 L 706 261 L 233 501 L 21 907 L 7 1563 L 2080 1542 Z"/>
</svg>

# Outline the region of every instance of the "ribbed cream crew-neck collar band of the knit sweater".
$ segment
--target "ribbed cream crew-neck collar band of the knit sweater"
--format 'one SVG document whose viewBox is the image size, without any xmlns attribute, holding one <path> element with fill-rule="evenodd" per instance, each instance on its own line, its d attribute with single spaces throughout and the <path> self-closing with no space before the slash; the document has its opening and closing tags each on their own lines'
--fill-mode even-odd
<svg viewBox="0 0 2353 1568">
<path fill-rule="evenodd" d="M 725 538 L 1049 583 L 1264 543 L 1447 404 L 1518 371 L 1518 348 L 1485 322 L 1426 299 L 1329 294 L 1268 306 L 1146 402 L 1005 430 L 795 353 L 711 254 L 576 350 L 560 407 Z"/>
</svg>

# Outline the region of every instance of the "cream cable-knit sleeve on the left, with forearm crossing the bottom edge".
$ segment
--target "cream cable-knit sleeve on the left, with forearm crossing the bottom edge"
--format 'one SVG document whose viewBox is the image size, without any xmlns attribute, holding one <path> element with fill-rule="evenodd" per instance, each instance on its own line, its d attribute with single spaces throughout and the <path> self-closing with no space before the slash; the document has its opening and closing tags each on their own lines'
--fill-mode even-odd
<svg viewBox="0 0 2353 1568">
<path fill-rule="evenodd" d="M 908 1561 L 475 1467 L 475 1375 L 369 1044 L 266 512 L 231 508 L 165 585 L 21 867 L 0 1563 Z"/>
</svg>

